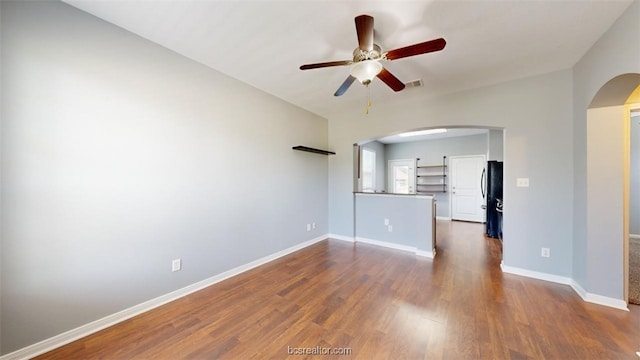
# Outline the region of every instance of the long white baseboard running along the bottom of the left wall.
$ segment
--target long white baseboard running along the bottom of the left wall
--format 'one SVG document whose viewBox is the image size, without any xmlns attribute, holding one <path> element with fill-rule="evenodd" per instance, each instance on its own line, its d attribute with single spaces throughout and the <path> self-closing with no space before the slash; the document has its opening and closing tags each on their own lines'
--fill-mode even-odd
<svg viewBox="0 0 640 360">
<path fill-rule="evenodd" d="M 270 261 L 276 260 L 278 258 L 281 258 L 285 255 L 291 254 L 295 251 L 298 251 L 300 249 L 303 249 L 305 247 L 308 247 L 310 245 L 313 245 L 317 242 L 320 242 L 322 240 L 325 240 L 327 237 L 329 237 L 329 235 L 322 235 L 319 237 L 316 237 L 314 239 L 305 241 L 303 243 L 300 243 L 298 245 L 294 245 L 290 248 L 278 251 L 276 253 L 273 253 L 271 255 L 267 255 L 263 258 L 257 259 L 255 261 L 252 261 L 248 264 L 245 265 L 241 265 L 238 266 L 236 268 L 233 268 L 231 270 L 225 271 L 223 273 L 220 273 L 218 275 L 212 276 L 208 279 L 199 281 L 195 284 L 191 284 L 189 286 L 186 286 L 182 289 L 178 289 L 175 291 L 172 291 L 168 294 L 159 296 L 155 299 L 151 299 L 149 301 L 145 301 L 141 304 L 132 306 L 128 309 L 124 309 L 120 312 L 117 312 L 115 314 L 111 314 L 108 315 L 102 319 L 98 319 L 96 321 L 90 322 L 88 324 L 82 325 L 80 327 L 77 327 L 75 329 L 69 330 L 67 332 L 64 332 L 62 334 L 53 336 L 51 338 L 45 339 L 43 341 L 40 341 L 36 344 L 33 345 L 29 345 L 27 347 L 24 347 L 22 349 L 16 350 L 12 353 L 0 356 L 0 360 L 23 360 L 23 359 L 31 359 L 35 356 L 44 354 L 48 351 L 51 351 L 55 348 L 58 348 L 60 346 L 66 345 L 70 342 L 76 341 L 78 339 L 81 339 L 85 336 L 91 335 L 93 333 L 96 333 L 100 330 L 106 329 L 110 326 L 113 326 L 117 323 L 120 323 L 122 321 L 128 320 L 136 315 L 140 315 L 144 312 L 147 312 L 149 310 L 155 309 L 161 305 L 164 305 L 166 303 L 169 303 L 171 301 L 177 300 L 179 298 L 185 297 L 189 294 L 192 294 L 198 290 L 202 290 L 208 286 L 211 286 L 213 284 L 216 284 L 218 282 L 221 282 L 223 280 L 226 280 L 228 278 L 231 278 L 233 276 L 236 276 L 238 274 L 241 274 L 245 271 L 251 270 L 255 267 L 258 267 L 260 265 L 264 265 Z"/>
</svg>

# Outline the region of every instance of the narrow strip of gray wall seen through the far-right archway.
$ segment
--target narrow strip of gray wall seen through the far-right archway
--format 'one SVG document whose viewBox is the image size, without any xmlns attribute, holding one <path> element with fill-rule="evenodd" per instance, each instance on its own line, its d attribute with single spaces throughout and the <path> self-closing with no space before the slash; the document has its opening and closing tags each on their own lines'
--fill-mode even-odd
<svg viewBox="0 0 640 360">
<path fill-rule="evenodd" d="M 640 236 L 640 112 L 631 117 L 629 233 Z"/>
</svg>

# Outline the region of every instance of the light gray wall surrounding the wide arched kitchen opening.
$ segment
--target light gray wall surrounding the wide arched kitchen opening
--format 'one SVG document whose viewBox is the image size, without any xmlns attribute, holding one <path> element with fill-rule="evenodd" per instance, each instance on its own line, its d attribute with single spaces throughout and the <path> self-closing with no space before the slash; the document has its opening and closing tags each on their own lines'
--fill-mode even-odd
<svg viewBox="0 0 640 360">
<path fill-rule="evenodd" d="M 349 236 L 353 229 L 352 144 L 427 127 L 503 128 L 504 264 L 570 276 L 572 98 L 572 72 L 563 70 L 430 98 L 403 93 L 366 120 L 357 109 L 330 117 L 329 145 L 338 153 L 329 161 L 331 233 Z M 516 187 L 520 177 L 530 179 L 529 188 Z M 551 248 L 550 258 L 540 257 L 542 247 Z"/>
</svg>

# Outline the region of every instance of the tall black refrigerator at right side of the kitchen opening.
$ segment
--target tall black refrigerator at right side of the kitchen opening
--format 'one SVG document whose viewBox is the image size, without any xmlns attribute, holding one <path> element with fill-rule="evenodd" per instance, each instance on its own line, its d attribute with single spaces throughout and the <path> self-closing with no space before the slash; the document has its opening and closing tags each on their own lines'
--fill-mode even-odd
<svg viewBox="0 0 640 360">
<path fill-rule="evenodd" d="M 498 199 L 502 201 L 502 161 L 488 161 L 482 172 L 481 189 L 487 209 L 487 236 L 499 238 L 502 232 L 500 213 L 497 211 Z M 486 185 L 486 186 L 485 186 Z"/>
</svg>

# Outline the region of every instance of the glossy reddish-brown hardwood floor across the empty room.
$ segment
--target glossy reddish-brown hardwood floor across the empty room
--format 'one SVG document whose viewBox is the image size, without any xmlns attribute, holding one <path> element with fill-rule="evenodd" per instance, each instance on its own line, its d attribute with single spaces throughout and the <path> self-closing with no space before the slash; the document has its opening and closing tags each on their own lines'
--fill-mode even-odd
<svg viewBox="0 0 640 360">
<path fill-rule="evenodd" d="M 482 233 L 438 222 L 434 260 L 325 240 L 38 359 L 637 359 L 639 307 L 503 274 Z"/>
</svg>

